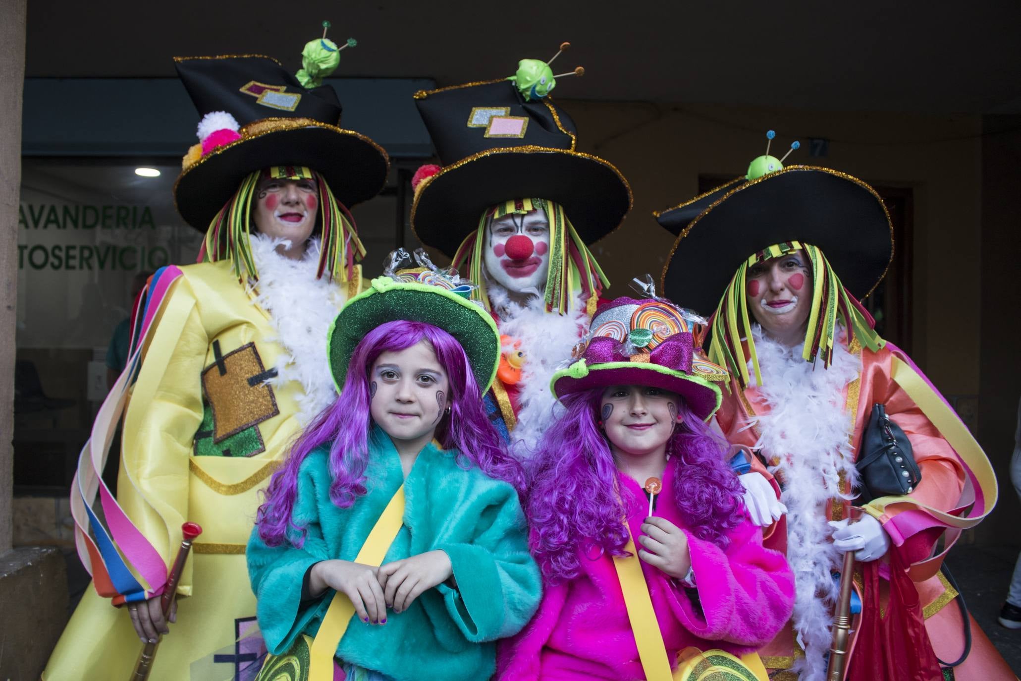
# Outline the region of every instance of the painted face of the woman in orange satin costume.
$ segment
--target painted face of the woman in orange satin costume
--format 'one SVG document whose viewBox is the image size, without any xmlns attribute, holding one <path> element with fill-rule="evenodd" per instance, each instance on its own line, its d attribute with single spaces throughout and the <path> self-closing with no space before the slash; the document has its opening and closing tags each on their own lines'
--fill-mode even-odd
<svg viewBox="0 0 1021 681">
<path fill-rule="evenodd" d="M 812 310 L 812 271 L 803 250 L 748 267 L 747 305 L 756 322 L 777 340 L 792 344 L 805 337 Z"/>
</svg>

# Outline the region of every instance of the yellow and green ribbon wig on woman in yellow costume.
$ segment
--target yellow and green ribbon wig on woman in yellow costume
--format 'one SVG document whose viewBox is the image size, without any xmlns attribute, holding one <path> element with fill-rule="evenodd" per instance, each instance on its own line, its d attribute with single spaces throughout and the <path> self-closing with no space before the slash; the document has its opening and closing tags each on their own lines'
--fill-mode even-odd
<svg viewBox="0 0 1021 681">
<path fill-rule="evenodd" d="M 246 274 L 249 279 L 258 280 L 258 270 L 252 258 L 249 236 L 252 224 L 252 198 L 263 173 L 280 180 L 315 181 L 320 204 L 319 222 L 322 226 L 317 277 L 322 277 L 326 273 L 331 281 L 333 279 L 348 281 L 354 273 L 355 261 L 366 255 L 366 248 L 361 245 L 354 229 L 354 220 L 347 208 L 337 201 L 323 176 L 300 165 L 273 165 L 266 171 L 248 174 L 241 181 L 238 191 L 209 224 L 198 260 L 217 262 L 229 259 L 238 279 Z"/>
</svg>

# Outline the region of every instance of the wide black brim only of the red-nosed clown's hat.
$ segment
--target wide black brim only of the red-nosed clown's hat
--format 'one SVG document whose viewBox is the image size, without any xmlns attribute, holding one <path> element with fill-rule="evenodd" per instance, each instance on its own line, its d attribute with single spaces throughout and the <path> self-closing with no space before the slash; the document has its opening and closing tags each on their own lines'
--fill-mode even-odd
<svg viewBox="0 0 1021 681">
<path fill-rule="evenodd" d="M 631 209 L 631 187 L 597 156 L 546 147 L 489 149 L 424 181 L 411 205 L 411 229 L 452 256 L 490 206 L 517 198 L 555 201 L 586 244 L 617 229 Z"/>
</svg>

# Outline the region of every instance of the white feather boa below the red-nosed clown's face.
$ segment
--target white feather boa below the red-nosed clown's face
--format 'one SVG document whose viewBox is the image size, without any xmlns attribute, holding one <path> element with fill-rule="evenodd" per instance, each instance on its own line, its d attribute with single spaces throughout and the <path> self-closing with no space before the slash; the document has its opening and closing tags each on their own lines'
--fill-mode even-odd
<svg viewBox="0 0 1021 681">
<path fill-rule="evenodd" d="M 528 459 L 542 434 L 556 420 L 560 403 L 549 390 L 549 380 L 571 349 L 578 343 L 588 324 L 588 314 L 580 300 L 567 314 L 547 312 L 541 296 L 525 304 L 515 302 L 495 282 L 487 284 L 489 302 L 499 318 L 500 334 L 521 341 L 525 352 L 522 369 L 518 425 L 510 434 L 510 449 L 521 459 Z M 507 348 L 504 348 L 507 349 Z"/>
</svg>

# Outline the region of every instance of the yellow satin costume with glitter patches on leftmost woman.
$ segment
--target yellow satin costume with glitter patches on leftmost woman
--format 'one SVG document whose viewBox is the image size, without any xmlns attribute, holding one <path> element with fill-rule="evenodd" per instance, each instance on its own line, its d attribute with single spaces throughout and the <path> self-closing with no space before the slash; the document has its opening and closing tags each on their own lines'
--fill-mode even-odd
<svg viewBox="0 0 1021 681">
<path fill-rule="evenodd" d="M 178 599 L 152 681 L 244 678 L 254 655 L 239 639 L 256 631 L 245 544 L 258 493 L 300 430 L 303 389 L 264 383 L 286 349 L 266 340 L 276 335 L 270 317 L 230 260 L 181 271 L 126 410 L 117 500 L 167 565 L 182 523 L 202 526 L 178 587 L 187 597 Z M 346 297 L 357 293 L 360 266 L 337 285 Z M 43 679 L 127 679 L 141 648 L 128 610 L 90 585 Z"/>
</svg>

